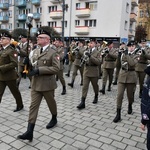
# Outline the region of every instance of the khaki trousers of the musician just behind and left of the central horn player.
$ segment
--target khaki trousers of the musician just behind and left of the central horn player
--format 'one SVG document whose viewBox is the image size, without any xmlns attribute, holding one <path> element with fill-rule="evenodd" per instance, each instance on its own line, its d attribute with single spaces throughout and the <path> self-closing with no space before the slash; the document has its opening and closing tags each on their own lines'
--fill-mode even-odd
<svg viewBox="0 0 150 150">
<path fill-rule="evenodd" d="M 81 83 L 83 82 L 83 67 L 74 65 L 73 67 L 73 73 L 72 73 L 72 81 L 75 80 L 76 76 L 77 76 L 77 72 L 78 70 L 80 71 L 80 75 L 81 75 Z"/>
</svg>

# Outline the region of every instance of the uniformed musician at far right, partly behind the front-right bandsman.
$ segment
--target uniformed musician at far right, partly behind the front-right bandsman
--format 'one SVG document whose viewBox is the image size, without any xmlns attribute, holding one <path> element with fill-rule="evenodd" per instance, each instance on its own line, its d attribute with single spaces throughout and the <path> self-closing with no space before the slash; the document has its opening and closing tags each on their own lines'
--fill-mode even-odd
<svg viewBox="0 0 150 150">
<path fill-rule="evenodd" d="M 142 89 L 143 89 L 144 79 L 146 76 L 146 73 L 144 72 L 144 70 L 146 69 L 148 65 L 148 60 L 150 60 L 150 51 L 148 47 L 146 47 L 145 39 L 140 41 L 139 46 L 140 47 L 139 47 L 138 53 L 140 56 L 139 56 L 138 63 L 135 66 L 135 71 L 138 77 L 139 87 L 140 87 L 139 98 L 142 98 Z"/>
</svg>

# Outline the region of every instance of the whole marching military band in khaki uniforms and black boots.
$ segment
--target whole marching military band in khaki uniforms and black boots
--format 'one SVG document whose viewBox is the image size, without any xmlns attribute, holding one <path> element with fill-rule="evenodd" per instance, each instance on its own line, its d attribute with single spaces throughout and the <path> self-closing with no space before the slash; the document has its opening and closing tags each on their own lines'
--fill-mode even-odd
<svg viewBox="0 0 150 150">
<path fill-rule="evenodd" d="M 139 98 L 142 98 L 143 84 L 147 78 L 145 69 L 149 65 L 150 49 L 145 39 L 139 43 L 135 41 L 129 41 L 127 44 L 120 43 L 117 47 L 114 47 L 113 41 L 97 41 L 94 38 L 72 40 L 65 48 L 60 38 L 53 40 L 51 38 L 50 33 L 42 28 L 37 32 L 35 45 L 32 41 L 28 43 L 25 34 L 20 35 L 19 41 L 15 43 L 8 31 L 0 33 L 0 102 L 8 86 L 16 100 L 14 112 L 22 110 L 24 105 L 19 91 L 21 78 L 28 77 L 31 83 L 28 127 L 24 134 L 18 136 L 18 139 L 33 140 L 38 110 L 43 98 L 52 116 L 46 128 L 52 128 L 57 124 L 56 81 L 60 80 L 61 95 L 65 95 L 67 88 L 71 87 L 73 90 L 78 71 L 81 77 L 82 95 L 77 109 L 86 108 L 90 83 L 95 94 L 93 104 L 98 103 L 100 94 L 109 94 L 113 84 L 117 86 L 116 116 L 113 122 L 121 121 L 125 91 L 128 99 L 127 113 L 132 114 L 136 86 L 139 84 Z M 64 63 L 68 64 L 65 77 L 71 76 L 70 83 L 65 82 Z M 98 84 L 99 80 L 102 80 L 101 87 Z"/>
</svg>

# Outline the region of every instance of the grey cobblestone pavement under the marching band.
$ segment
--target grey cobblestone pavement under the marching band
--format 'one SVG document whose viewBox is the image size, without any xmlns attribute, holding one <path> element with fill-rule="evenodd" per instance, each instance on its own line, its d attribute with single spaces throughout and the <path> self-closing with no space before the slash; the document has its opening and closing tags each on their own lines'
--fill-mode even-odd
<svg viewBox="0 0 150 150">
<path fill-rule="evenodd" d="M 65 77 L 66 84 L 71 77 Z M 86 108 L 77 110 L 82 87 L 77 75 L 74 88 L 67 86 L 67 94 L 61 95 L 62 86 L 58 81 L 55 99 L 58 107 L 58 124 L 46 129 L 51 119 L 46 102 L 40 106 L 32 142 L 16 137 L 26 131 L 30 106 L 29 80 L 22 79 L 20 91 L 24 109 L 13 112 L 15 100 L 6 89 L 0 104 L 0 150 L 146 150 L 146 131 L 140 129 L 140 99 L 138 87 L 133 104 L 133 114 L 127 114 L 126 96 L 122 108 L 122 121 L 113 123 L 116 113 L 117 86 L 105 95 L 99 94 L 98 104 L 93 104 L 94 93 L 90 85 Z M 101 80 L 99 80 L 101 88 Z"/>
</svg>

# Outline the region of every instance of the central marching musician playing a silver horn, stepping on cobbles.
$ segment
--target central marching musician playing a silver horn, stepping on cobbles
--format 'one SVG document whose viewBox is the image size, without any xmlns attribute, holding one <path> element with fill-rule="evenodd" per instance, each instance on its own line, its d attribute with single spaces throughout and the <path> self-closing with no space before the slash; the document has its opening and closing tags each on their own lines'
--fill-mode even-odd
<svg viewBox="0 0 150 150">
<path fill-rule="evenodd" d="M 98 102 L 98 78 L 99 78 L 99 65 L 101 63 L 100 53 L 97 51 L 96 48 L 96 41 L 93 39 L 90 41 L 89 49 L 84 52 L 84 57 L 88 57 L 84 64 L 84 71 L 83 71 L 83 87 L 82 87 L 82 97 L 81 102 L 77 106 L 78 109 L 85 108 L 85 99 L 87 97 L 89 84 L 91 82 L 95 97 L 93 100 L 93 104 Z M 84 60 L 84 58 L 83 58 Z"/>
</svg>

